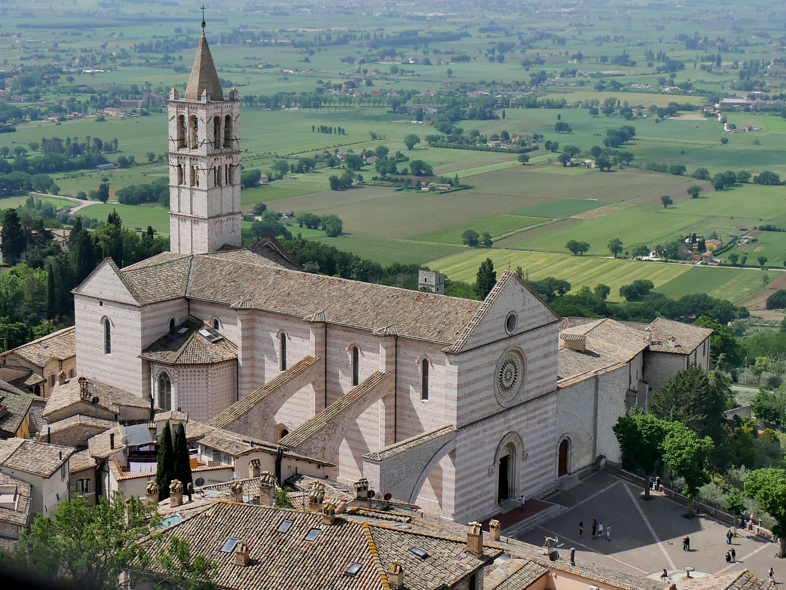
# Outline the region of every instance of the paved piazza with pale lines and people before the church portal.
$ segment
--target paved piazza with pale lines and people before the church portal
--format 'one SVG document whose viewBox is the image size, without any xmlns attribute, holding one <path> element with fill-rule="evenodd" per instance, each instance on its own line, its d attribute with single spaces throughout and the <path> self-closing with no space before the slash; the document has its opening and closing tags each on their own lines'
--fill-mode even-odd
<svg viewBox="0 0 786 590">
<path fill-rule="evenodd" d="M 606 566 L 630 570 L 646 576 L 666 568 L 681 570 L 692 566 L 706 573 L 747 569 L 766 580 L 773 567 L 775 581 L 786 588 L 786 559 L 776 559 L 777 545 L 748 532 L 738 531 L 733 544 L 725 542 L 729 527 L 711 517 L 684 518 L 685 506 L 665 496 L 645 502 L 643 491 L 629 481 L 599 471 L 566 492 L 546 500 L 566 509 L 535 529 L 513 533 L 520 540 L 538 546 L 544 537 L 559 537 L 560 551 L 575 547 L 578 555 Z M 612 540 L 592 539 L 593 518 L 612 526 Z M 578 523 L 584 533 L 578 536 Z M 505 533 L 503 533 L 505 534 Z M 682 538 L 690 537 L 690 551 L 682 551 Z M 737 562 L 726 563 L 730 548 Z"/>
</svg>

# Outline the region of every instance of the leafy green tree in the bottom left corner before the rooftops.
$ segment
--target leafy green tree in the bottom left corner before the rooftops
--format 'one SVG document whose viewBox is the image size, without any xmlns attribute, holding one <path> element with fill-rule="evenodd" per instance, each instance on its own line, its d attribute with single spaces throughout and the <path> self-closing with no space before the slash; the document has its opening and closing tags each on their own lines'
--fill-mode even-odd
<svg viewBox="0 0 786 590">
<path fill-rule="evenodd" d="M 109 501 L 99 497 L 94 507 L 76 496 L 61 502 L 54 518 L 36 516 L 0 559 L 22 573 L 34 573 L 42 587 L 49 588 L 120 590 L 125 587 L 123 573 L 129 570 L 164 571 L 175 588 L 208 588 L 215 562 L 200 555 L 182 559 L 186 556 L 172 551 L 171 545 L 158 555 L 148 554 L 145 541 L 159 525 L 155 505 L 145 506 L 136 496 L 123 500 L 115 493 Z"/>
</svg>

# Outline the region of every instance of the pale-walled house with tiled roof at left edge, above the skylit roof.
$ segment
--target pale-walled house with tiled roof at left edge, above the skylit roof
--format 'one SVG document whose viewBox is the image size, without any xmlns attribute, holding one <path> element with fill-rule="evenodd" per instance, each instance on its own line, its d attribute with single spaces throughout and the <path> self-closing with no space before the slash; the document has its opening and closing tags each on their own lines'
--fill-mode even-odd
<svg viewBox="0 0 786 590">
<path fill-rule="evenodd" d="M 24 438 L 0 441 L 0 474 L 31 485 L 31 511 L 52 516 L 57 504 L 68 499 L 68 459 L 74 449 Z"/>
</svg>

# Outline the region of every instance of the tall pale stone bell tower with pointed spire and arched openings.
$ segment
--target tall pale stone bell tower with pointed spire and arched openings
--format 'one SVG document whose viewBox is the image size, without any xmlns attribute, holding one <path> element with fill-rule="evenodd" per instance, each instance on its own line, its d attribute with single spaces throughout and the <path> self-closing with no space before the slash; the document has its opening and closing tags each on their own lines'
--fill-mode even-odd
<svg viewBox="0 0 786 590">
<path fill-rule="evenodd" d="M 225 98 L 204 35 L 185 96 L 169 93 L 169 249 L 204 254 L 241 245 L 241 101 Z"/>
</svg>

